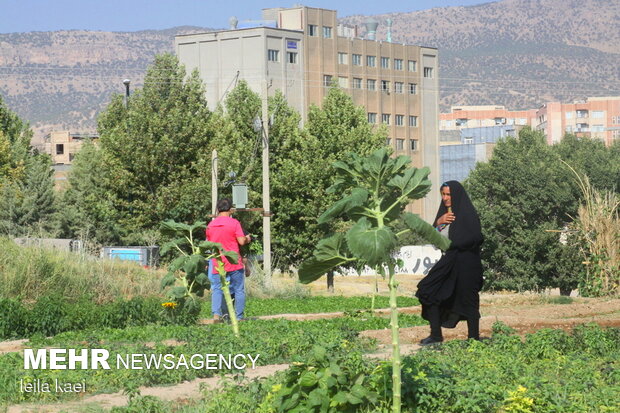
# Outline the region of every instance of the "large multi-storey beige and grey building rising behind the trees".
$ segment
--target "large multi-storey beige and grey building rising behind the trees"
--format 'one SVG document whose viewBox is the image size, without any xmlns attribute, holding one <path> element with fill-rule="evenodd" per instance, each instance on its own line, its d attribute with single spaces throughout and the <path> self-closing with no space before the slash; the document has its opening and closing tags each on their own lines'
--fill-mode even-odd
<svg viewBox="0 0 620 413">
<path fill-rule="evenodd" d="M 177 36 L 176 52 L 188 72 L 197 69 L 215 107 L 236 79 L 261 93 L 281 90 L 305 120 L 310 105 L 321 105 L 332 83 L 366 109 L 370 123 L 389 128 L 388 145 L 416 167 L 429 166 L 439 180 L 439 81 L 435 48 L 367 38 L 356 27 L 338 24 L 335 10 L 305 6 L 263 10 L 263 27 Z M 265 22 L 267 22 L 265 24 Z M 270 26 L 270 27 L 265 27 Z M 353 149 L 353 148 L 352 148 Z M 413 210 L 432 218 L 438 191 Z"/>
</svg>

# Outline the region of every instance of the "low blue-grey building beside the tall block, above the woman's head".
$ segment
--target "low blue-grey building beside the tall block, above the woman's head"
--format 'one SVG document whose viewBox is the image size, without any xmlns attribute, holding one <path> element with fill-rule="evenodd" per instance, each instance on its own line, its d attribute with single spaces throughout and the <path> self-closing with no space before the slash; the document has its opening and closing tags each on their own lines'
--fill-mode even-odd
<svg viewBox="0 0 620 413">
<path fill-rule="evenodd" d="M 441 182 L 463 182 L 477 162 L 487 162 L 498 140 L 516 137 L 523 126 L 485 126 L 440 131 Z"/>
</svg>

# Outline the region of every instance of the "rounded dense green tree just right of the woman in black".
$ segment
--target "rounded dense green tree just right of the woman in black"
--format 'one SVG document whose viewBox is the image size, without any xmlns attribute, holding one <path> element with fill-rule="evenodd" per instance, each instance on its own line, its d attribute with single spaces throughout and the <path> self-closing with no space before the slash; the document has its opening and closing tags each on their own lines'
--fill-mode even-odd
<svg viewBox="0 0 620 413">
<path fill-rule="evenodd" d="M 518 139 L 500 141 L 488 163 L 466 182 L 482 224 L 486 288 L 538 290 L 566 283 L 570 257 L 560 233 L 577 212 L 571 172 L 544 136 L 523 129 Z M 572 288 L 578 275 L 569 275 Z M 565 286 L 565 288 L 567 288 Z"/>
</svg>

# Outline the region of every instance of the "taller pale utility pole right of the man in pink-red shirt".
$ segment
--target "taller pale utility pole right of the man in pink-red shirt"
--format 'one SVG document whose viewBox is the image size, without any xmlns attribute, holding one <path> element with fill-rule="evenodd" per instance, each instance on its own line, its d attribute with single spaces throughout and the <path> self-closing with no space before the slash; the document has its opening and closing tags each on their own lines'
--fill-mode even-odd
<svg viewBox="0 0 620 413">
<path fill-rule="evenodd" d="M 267 79 L 263 80 L 263 271 L 271 277 L 271 211 L 269 207 L 269 105 Z"/>
</svg>

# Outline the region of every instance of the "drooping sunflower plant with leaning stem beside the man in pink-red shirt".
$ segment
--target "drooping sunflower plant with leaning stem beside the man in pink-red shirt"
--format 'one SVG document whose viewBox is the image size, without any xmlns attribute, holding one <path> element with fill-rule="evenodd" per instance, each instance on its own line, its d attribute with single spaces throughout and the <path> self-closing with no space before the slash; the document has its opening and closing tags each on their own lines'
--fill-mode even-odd
<svg viewBox="0 0 620 413">
<path fill-rule="evenodd" d="M 229 282 L 226 280 L 223 257 L 231 261 L 237 261 L 238 255 L 233 251 L 226 251 L 222 244 L 210 241 L 198 241 L 194 233 L 206 228 L 206 223 L 199 221 L 192 225 L 165 221 L 161 224 L 160 231 L 163 236 L 172 238 L 162 245 L 161 252 L 177 251 L 179 256 L 168 266 L 168 273 L 161 280 L 162 289 L 168 288 L 166 295 L 175 302 L 176 306 L 168 306 L 171 315 L 176 312 L 187 311 L 190 314 L 200 313 L 200 301 L 206 289 L 210 288 L 209 277 L 206 273 L 208 260 L 214 258 L 217 262 L 216 271 L 222 282 L 224 299 L 230 314 L 231 324 L 236 336 L 239 336 L 239 325 L 235 315 L 232 298 L 230 296 Z M 180 285 L 176 285 L 179 283 Z"/>
</svg>

